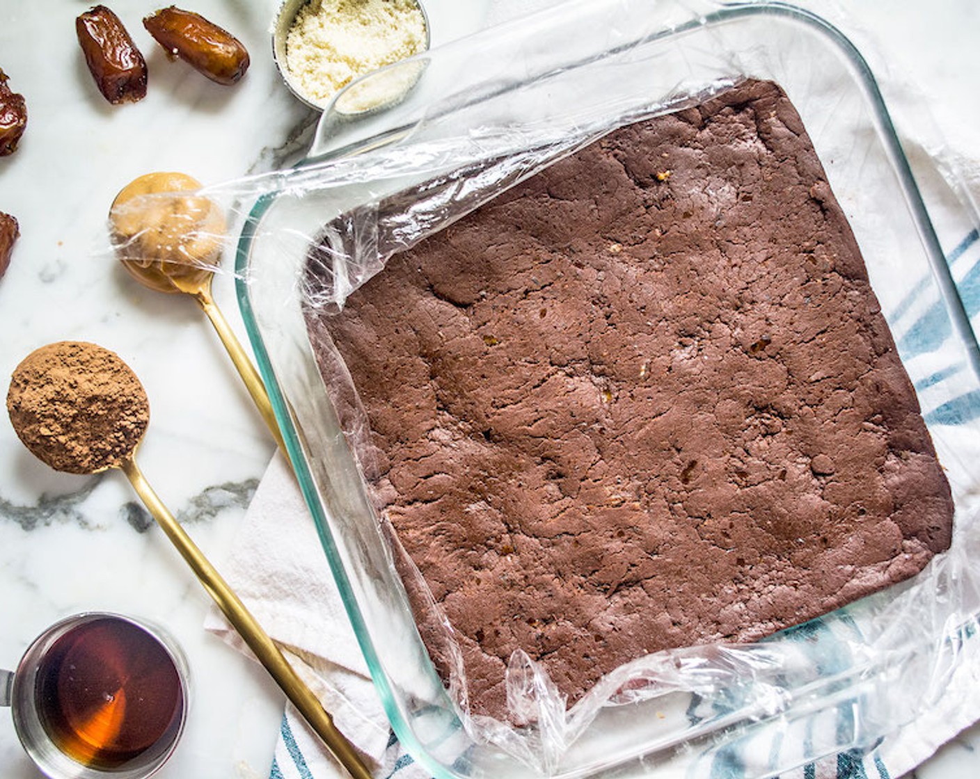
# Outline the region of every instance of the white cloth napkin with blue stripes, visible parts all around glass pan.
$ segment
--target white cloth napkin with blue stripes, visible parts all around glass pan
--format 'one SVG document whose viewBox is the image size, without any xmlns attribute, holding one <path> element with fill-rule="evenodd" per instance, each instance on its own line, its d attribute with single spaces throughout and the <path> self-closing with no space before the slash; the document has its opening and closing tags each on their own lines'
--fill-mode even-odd
<svg viewBox="0 0 980 779">
<path fill-rule="evenodd" d="M 493 21 L 556 0 L 512 0 L 496 3 Z M 896 87 L 896 83 L 892 83 Z M 898 84 L 888 93 L 893 111 L 907 104 L 914 110 L 917 92 Z M 956 133 L 954 133 L 956 135 Z M 962 133 L 962 137 L 971 137 Z M 906 137 L 907 155 L 932 160 L 935 149 Z M 976 148 L 945 150 L 964 174 L 968 191 L 980 200 L 980 164 Z M 930 205 L 942 208 L 941 193 Z M 937 215 L 934 215 L 937 216 Z M 973 225 L 943 219 L 937 226 L 949 252 L 967 312 L 980 328 L 980 239 Z M 368 676 L 340 596 L 319 544 L 319 536 L 292 473 L 277 455 L 270 463 L 226 564 L 225 578 L 238 591 L 270 635 L 286 650 L 340 730 L 365 755 L 378 777 L 427 779 L 428 774 L 406 755 L 393 736 Z M 206 627 L 244 650 L 217 609 Z M 953 680 L 956 689 L 977 691 L 965 704 L 962 697 L 937 706 L 912 726 L 885 739 L 869 755 L 838 755 L 787 776 L 824 779 L 889 779 L 913 769 L 963 728 L 980 719 L 980 667 L 962 665 Z M 335 779 L 346 774 L 291 707 L 286 706 L 270 779 Z"/>
</svg>

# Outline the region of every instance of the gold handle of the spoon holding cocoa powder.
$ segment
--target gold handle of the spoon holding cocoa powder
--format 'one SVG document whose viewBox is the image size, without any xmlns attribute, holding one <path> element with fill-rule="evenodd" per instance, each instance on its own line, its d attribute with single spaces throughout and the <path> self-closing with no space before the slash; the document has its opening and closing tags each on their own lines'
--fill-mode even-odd
<svg viewBox="0 0 980 779">
<path fill-rule="evenodd" d="M 163 501 L 160 500 L 143 476 L 135 458 L 130 455 L 123 460 L 120 467 L 136 494 L 171 539 L 181 557 L 190 565 L 224 616 L 227 617 L 249 649 L 266 667 L 266 670 L 269 671 L 275 683 L 279 685 L 293 706 L 299 709 L 304 719 L 316 731 L 333 756 L 355 779 L 371 779 L 368 768 L 362 762 L 353 745 L 337 730 L 333 724 L 333 719 L 320 705 L 317 697 L 299 677 L 289 661 L 283 657 L 262 625 L 245 608 L 245 604 L 239 600 L 227 582 L 221 578 L 221 574 L 214 565 L 208 561 L 183 527 L 173 518 L 172 513 L 164 506 Z"/>
</svg>

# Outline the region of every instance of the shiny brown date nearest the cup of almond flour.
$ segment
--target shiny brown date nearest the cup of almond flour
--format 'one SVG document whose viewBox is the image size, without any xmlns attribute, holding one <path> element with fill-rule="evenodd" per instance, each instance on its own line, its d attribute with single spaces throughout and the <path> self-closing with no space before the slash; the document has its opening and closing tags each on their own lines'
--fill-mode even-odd
<svg viewBox="0 0 980 779">
<path fill-rule="evenodd" d="M 248 70 L 245 46 L 227 30 L 193 11 L 171 6 L 146 17 L 143 26 L 172 57 L 226 86 Z"/>
</svg>

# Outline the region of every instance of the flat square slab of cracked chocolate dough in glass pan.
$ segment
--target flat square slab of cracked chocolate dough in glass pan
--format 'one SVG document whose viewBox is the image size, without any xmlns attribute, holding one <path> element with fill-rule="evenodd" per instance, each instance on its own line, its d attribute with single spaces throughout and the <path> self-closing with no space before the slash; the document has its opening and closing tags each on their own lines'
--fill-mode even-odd
<svg viewBox="0 0 980 779">
<path fill-rule="evenodd" d="M 907 373 L 772 83 L 613 131 L 313 327 L 475 713 L 506 716 L 515 650 L 571 704 L 627 660 L 759 639 L 949 546 Z"/>
</svg>

